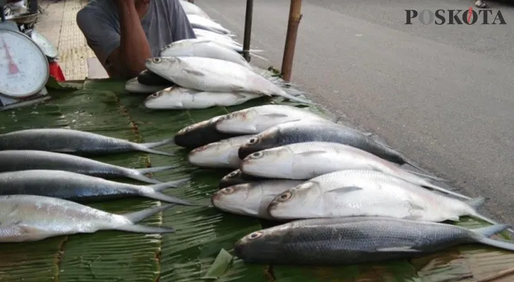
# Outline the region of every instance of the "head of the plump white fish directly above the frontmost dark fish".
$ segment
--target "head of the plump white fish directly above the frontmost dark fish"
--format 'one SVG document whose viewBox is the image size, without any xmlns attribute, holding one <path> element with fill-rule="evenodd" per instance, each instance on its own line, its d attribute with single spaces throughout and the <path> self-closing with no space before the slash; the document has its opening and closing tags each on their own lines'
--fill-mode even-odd
<svg viewBox="0 0 514 282">
<path fill-rule="evenodd" d="M 323 209 L 319 184 L 309 180 L 282 192 L 269 203 L 268 214 L 274 219 L 308 219 Z"/>
</svg>

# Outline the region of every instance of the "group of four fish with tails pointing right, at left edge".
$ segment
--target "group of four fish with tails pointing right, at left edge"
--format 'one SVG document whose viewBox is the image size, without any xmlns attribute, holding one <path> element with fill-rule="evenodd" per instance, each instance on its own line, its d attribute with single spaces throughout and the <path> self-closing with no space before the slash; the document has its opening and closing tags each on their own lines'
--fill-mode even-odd
<svg viewBox="0 0 514 282">
<path fill-rule="evenodd" d="M 138 233 L 170 233 L 173 228 L 136 224 L 177 204 L 196 204 L 164 195 L 161 190 L 179 188 L 189 178 L 161 182 L 145 176 L 172 169 L 126 168 L 95 161 L 87 156 L 122 152 L 147 152 L 173 139 L 135 143 L 80 130 L 38 128 L 0 135 L 0 242 L 42 240 L 56 235 L 119 230 Z M 116 182 L 131 178 L 152 185 Z M 123 197 L 147 197 L 166 202 L 130 214 L 111 214 L 85 205 Z"/>
</svg>

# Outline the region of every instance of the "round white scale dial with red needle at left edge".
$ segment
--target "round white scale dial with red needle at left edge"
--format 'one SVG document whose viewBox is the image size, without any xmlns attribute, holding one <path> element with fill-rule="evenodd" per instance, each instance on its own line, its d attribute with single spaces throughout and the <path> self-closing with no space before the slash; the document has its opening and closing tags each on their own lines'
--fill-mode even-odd
<svg viewBox="0 0 514 282">
<path fill-rule="evenodd" d="M 50 75 L 47 56 L 21 32 L 0 30 L 0 93 L 29 97 L 42 90 Z"/>
</svg>

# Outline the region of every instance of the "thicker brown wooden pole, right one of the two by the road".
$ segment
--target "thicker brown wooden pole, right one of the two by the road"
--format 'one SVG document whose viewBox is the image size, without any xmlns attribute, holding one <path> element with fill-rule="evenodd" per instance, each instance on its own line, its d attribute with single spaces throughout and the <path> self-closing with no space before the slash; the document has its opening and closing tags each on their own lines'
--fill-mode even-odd
<svg viewBox="0 0 514 282">
<path fill-rule="evenodd" d="M 302 0 L 291 0 L 289 6 L 288 32 L 286 35 L 286 45 L 283 49 L 282 57 L 282 79 L 290 82 L 293 72 L 293 59 L 295 57 L 296 35 L 298 35 L 298 25 L 302 19 Z"/>
</svg>

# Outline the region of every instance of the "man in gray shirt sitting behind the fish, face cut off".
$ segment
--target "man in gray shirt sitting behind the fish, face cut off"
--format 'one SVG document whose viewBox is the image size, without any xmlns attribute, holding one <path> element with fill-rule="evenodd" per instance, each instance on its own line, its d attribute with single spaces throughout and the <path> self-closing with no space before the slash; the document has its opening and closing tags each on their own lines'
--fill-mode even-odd
<svg viewBox="0 0 514 282">
<path fill-rule="evenodd" d="M 178 0 L 92 0 L 77 13 L 87 45 L 110 77 L 133 78 L 145 60 L 181 39 L 196 38 Z"/>
</svg>

